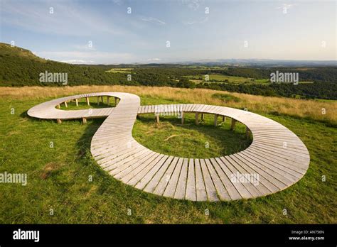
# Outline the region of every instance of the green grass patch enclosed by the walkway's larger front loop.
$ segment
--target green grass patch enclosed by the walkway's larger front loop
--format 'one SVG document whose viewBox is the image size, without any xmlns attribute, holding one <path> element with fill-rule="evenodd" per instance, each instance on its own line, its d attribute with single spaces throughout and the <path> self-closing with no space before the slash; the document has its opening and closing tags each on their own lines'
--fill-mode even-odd
<svg viewBox="0 0 337 247">
<path fill-rule="evenodd" d="M 196 126 L 194 114 L 185 114 L 184 124 L 175 116 L 160 116 L 160 123 L 154 122 L 154 114 L 139 116 L 132 135 L 147 148 L 158 153 L 184 158 L 213 158 L 244 150 L 251 140 L 245 137 L 245 126 L 237 124 L 230 131 L 230 121 L 214 126 L 214 116 L 205 114 Z"/>
</svg>

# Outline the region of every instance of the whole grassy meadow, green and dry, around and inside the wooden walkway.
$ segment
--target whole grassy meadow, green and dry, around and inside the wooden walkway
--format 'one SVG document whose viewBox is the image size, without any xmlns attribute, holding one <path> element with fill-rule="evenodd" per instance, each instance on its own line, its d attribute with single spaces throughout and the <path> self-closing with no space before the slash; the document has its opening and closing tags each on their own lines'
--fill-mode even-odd
<svg viewBox="0 0 337 247">
<path fill-rule="evenodd" d="M 309 170 L 287 190 L 256 199 L 189 202 L 142 192 L 107 175 L 92 159 L 90 141 L 104 119 L 57 124 L 26 114 L 44 101 L 85 92 L 130 92 L 141 97 L 141 104 L 247 108 L 296 133 L 311 155 Z M 27 173 L 28 183 L 0 184 L 0 224 L 336 224 L 337 103 L 228 92 L 223 94 L 231 97 L 213 97 L 219 93 L 169 87 L 2 87 L 0 173 Z M 97 107 L 95 101 L 91 107 Z M 234 132 L 227 122 L 215 127 L 207 115 L 195 126 L 193 115 L 186 116 L 183 126 L 174 117 L 161 117 L 157 125 L 153 116 L 139 116 L 134 138 L 161 153 L 200 158 L 235 153 L 250 144 L 244 126 Z"/>
</svg>

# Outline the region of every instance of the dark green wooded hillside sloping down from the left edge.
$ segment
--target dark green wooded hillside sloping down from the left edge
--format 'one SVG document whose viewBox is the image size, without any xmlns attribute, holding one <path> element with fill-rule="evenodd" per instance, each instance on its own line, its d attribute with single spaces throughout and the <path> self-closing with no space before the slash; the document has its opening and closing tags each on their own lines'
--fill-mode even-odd
<svg viewBox="0 0 337 247">
<path fill-rule="evenodd" d="M 123 84 L 125 76 L 105 73 L 99 67 L 69 65 L 63 62 L 44 60 L 30 50 L 0 43 L 0 85 L 1 86 L 60 86 L 61 83 L 39 81 L 41 72 L 68 73 L 68 84 Z"/>
</svg>

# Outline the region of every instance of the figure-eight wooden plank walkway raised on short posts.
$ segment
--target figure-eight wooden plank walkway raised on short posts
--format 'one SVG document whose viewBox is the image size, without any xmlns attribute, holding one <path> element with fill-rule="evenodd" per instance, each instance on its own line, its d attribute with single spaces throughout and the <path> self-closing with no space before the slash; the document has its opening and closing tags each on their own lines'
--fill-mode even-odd
<svg viewBox="0 0 337 247">
<path fill-rule="evenodd" d="M 116 107 L 62 111 L 55 106 L 80 98 L 114 97 Z M 88 102 L 89 104 L 89 102 Z M 156 153 L 132 137 L 137 114 L 214 114 L 245 124 L 252 144 L 245 150 L 218 158 L 188 159 Z M 310 156 L 304 143 L 288 128 L 249 111 L 205 104 L 140 106 L 137 95 L 119 92 L 81 94 L 34 106 L 29 116 L 40 119 L 107 117 L 92 137 L 91 153 L 101 168 L 139 190 L 193 201 L 261 197 L 284 190 L 304 176 Z M 247 132 L 248 133 L 248 132 Z M 252 178 L 255 178 L 252 179 Z"/>
</svg>

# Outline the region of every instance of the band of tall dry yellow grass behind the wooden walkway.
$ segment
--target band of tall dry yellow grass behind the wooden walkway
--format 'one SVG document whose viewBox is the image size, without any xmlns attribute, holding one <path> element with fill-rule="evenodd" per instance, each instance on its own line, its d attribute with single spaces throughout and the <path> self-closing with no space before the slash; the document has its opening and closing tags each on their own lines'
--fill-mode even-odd
<svg viewBox="0 0 337 247">
<path fill-rule="evenodd" d="M 239 109 L 247 108 L 257 113 L 287 114 L 289 116 L 308 117 L 314 120 L 337 124 L 337 102 L 321 102 L 314 100 L 290 99 L 283 97 L 263 97 L 251 94 L 220 92 L 210 89 L 181 89 L 172 87 L 141 86 L 77 86 L 77 87 L 0 87 L 0 97 L 10 99 L 42 99 L 61 97 L 88 92 L 129 92 L 140 97 L 158 97 L 189 103 L 215 104 Z M 214 99 L 213 94 L 232 94 L 241 99 L 240 102 L 225 103 Z M 325 111 L 325 114 L 323 114 Z"/>
</svg>

